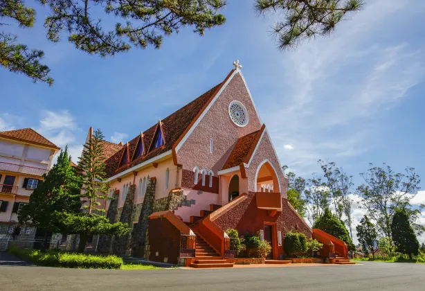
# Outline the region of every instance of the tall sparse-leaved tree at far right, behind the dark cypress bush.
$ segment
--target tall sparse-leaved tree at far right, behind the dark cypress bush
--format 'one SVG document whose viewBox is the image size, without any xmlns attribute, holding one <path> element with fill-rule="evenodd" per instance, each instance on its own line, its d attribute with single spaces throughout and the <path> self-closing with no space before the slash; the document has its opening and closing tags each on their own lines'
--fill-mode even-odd
<svg viewBox="0 0 425 291">
<path fill-rule="evenodd" d="M 377 224 L 377 230 L 386 238 L 391 238 L 392 216 L 397 209 L 406 209 L 410 223 L 415 225 L 419 233 L 423 227 L 417 225 L 415 220 L 419 215 L 418 209 L 411 209 L 410 199 L 420 189 L 419 175 L 415 168 L 406 168 L 406 173 L 395 173 L 390 166 L 371 168 L 366 173 L 361 173 L 365 180 L 357 188 L 361 197 L 362 206 L 367 209 L 368 216 Z"/>
</svg>

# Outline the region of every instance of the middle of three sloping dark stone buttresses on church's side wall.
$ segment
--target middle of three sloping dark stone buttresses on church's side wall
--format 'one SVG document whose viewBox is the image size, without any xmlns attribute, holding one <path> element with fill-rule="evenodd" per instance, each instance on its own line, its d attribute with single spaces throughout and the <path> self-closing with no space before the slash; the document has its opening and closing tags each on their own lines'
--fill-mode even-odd
<svg viewBox="0 0 425 291">
<path fill-rule="evenodd" d="M 118 256 L 125 256 L 128 254 L 130 249 L 130 240 L 131 233 L 133 229 L 133 208 L 134 208 L 134 193 L 136 192 L 136 185 L 132 185 L 129 187 L 127 191 L 127 197 L 125 197 L 125 202 L 123 206 L 123 211 L 121 212 L 120 222 L 124 224 L 128 224 L 130 230 L 127 234 L 123 236 L 116 236 L 114 239 L 112 252 Z"/>
</svg>

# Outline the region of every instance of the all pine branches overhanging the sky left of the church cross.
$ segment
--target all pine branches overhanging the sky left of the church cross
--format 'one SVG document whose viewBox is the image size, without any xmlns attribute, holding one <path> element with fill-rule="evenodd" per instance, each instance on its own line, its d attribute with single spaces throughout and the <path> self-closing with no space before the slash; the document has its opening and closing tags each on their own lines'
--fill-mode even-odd
<svg viewBox="0 0 425 291">
<path fill-rule="evenodd" d="M 50 12 L 44 21 L 47 38 L 59 42 L 63 33 L 75 48 L 102 57 L 129 51 L 132 46 L 160 48 L 164 35 L 179 33 L 183 26 L 193 26 L 195 33 L 224 24 L 226 19 L 219 10 L 225 0 L 38 0 L 48 6 Z M 118 23 L 113 30 L 105 30 L 100 17 L 113 15 Z M 30 28 L 35 21 L 35 10 L 24 0 L 0 0 L 0 20 L 12 19 L 19 26 Z M 0 21 L 0 26 L 6 25 Z M 124 22 L 124 23 L 123 23 Z M 0 64 L 17 73 L 24 73 L 35 82 L 53 84 L 50 69 L 40 64 L 44 53 L 29 50 L 17 44 L 17 35 L 0 31 Z"/>
</svg>

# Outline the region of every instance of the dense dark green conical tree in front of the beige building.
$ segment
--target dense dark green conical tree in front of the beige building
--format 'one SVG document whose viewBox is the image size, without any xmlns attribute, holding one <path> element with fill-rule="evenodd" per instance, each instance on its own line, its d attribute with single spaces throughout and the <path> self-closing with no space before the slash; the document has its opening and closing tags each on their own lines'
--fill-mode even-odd
<svg viewBox="0 0 425 291">
<path fill-rule="evenodd" d="M 62 232 L 65 227 L 58 220 L 58 213 L 78 214 L 81 208 L 81 179 L 71 166 L 67 147 L 61 150 L 57 163 L 43 177 L 44 181 L 40 181 L 30 195 L 30 203 L 19 210 L 19 222 L 52 233 Z"/>
</svg>

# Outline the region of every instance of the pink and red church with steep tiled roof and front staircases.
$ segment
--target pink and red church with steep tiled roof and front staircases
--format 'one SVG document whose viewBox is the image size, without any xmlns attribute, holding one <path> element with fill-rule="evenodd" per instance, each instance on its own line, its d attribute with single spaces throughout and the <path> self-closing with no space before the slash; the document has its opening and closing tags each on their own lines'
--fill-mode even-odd
<svg viewBox="0 0 425 291">
<path fill-rule="evenodd" d="M 316 233 L 287 200 L 288 180 L 255 108 L 239 61 L 224 80 L 127 143 L 105 143 L 111 197 L 103 205 L 125 236 L 98 238 L 97 250 L 192 267 L 232 267 L 227 229 L 260 234 L 284 257 L 287 231 L 346 245 Z M 93 130 L 89 131 L 89 139 Z"/>
</svg>

